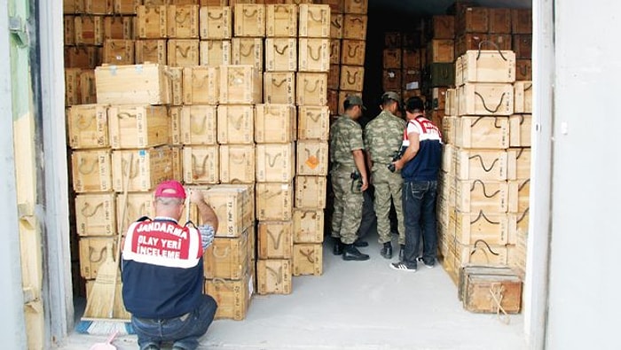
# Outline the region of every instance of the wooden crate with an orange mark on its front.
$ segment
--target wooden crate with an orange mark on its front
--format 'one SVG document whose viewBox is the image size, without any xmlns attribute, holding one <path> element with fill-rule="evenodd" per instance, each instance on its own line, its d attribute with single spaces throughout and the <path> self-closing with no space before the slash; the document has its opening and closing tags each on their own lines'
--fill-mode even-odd
<svg viewBox="0 0 621 350">
<path fill-rule="evenodd" d="M 296 175 L 327 175 L 329 153 L 326 141 L 299 140 L 296 148 Z"/>
</svg>

